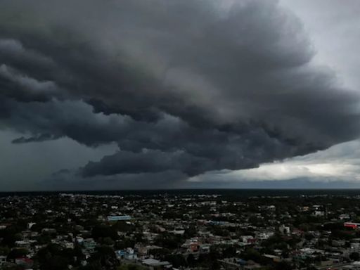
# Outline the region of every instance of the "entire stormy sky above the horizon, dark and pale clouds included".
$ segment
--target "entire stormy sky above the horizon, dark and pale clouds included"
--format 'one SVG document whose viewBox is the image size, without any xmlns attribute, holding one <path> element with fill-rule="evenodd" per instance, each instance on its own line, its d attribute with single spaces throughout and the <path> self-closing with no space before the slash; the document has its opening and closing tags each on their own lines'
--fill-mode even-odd
<svg viewBox="0 0 360 270">
<path fill-rule="evenodd" d="M 0 191 L 360 188 L 358 0 L 3 0 Z"/>
</svg>

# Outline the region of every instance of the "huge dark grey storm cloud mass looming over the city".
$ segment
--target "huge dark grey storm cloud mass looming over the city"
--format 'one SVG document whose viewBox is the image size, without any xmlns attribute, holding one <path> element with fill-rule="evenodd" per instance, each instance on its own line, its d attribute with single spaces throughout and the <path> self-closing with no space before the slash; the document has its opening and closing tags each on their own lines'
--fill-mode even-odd
<svg viewBox="0 0 360 270">
<path fill-rule="evenodd" d="M 117 143 L 82 176 L 257 167 L 359 135 L 359 96 L 276 1 L 1 6 L 1 125 Z"/>
</svg>

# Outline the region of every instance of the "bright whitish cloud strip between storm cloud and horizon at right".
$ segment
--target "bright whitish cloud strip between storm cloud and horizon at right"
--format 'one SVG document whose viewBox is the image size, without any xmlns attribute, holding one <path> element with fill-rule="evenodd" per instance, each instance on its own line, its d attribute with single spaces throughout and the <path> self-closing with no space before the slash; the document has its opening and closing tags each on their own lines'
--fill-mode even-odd
<svg viewBox="0 0 360 270">
<path fill-rule="evenodd" d="M 208 172 L 189 179 L 195 186 L 359 188 L 360 141 L 349 141 L 308 155 L 257 168 Z M 325 184 L 325 185 L 324 185 Z"/>
</svg>

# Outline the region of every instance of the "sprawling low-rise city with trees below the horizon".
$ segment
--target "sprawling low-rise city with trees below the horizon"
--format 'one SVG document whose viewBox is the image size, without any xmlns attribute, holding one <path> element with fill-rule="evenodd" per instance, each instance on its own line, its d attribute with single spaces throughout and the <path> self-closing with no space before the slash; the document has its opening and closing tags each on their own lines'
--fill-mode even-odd
<svg viewBox="0 0 360 270">
<path fill-rule="evenodd" d="M 153 191 L 0 201 L 1 269 L 360 269 L 360 195 Z"/>
</svg>

